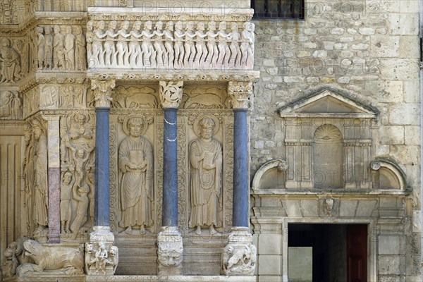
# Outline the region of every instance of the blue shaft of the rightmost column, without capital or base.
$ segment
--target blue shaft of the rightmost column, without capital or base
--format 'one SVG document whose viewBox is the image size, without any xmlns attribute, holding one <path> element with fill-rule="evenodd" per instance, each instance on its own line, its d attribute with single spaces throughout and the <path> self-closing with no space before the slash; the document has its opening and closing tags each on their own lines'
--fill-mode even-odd
<svg viewBox="0 0 423 282">
<path fill-rule="evenodd" d="M 233 109 L 233 226 L 248 226 L 247 109 Z"/>
</svg>

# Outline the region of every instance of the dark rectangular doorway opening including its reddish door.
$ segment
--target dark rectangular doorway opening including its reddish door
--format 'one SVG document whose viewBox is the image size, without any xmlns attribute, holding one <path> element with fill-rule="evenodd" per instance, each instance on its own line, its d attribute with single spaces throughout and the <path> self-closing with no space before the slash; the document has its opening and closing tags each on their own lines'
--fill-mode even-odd
<svg viewBox="0 0 423 282">
<path fill-rule="evenodd" d="M 288 281 L 367 282 L 367 225 L 288 224 Z"/>
</svg>

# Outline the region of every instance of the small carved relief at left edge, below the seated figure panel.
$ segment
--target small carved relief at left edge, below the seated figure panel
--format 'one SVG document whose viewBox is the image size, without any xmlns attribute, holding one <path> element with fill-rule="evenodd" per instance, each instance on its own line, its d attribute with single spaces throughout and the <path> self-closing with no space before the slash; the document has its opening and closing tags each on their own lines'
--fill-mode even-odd
<svg viewBox="0 0 423 282">
<path fill-rule="evenodd" d="M 0 92 L 0 119 L 20 119 L 22 110 L 22 98 L 18 91 Z"/>
</svg>

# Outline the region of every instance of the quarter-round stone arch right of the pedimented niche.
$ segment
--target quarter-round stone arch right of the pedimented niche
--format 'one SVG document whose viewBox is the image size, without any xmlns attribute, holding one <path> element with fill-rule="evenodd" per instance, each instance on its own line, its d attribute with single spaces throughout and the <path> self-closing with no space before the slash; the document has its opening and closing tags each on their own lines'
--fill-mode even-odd
<svg viewBox="0 0 423 282">
<path fill-rule="evenodd" d="M 375 159 L 370 162 L 373 188 L 379 190 L 405 190 L 403 171 L 393 161 Z"/>
</svg>

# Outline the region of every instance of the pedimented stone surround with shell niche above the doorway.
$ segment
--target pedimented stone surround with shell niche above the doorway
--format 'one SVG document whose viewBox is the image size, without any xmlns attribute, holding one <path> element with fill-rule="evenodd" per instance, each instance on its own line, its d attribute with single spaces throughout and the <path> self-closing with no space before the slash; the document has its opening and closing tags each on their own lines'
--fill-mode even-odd
<svg viewBox="0 0 423 282">
<path fill-rule="evenodd" d="M 369 161 L 377 109 L 352 94 L 325 87 L 278 112 L 286 125 L 286 161 L 290 164 L 286 189 L 373 188 Z M 336 154 L 329 157 L 328 142 L 337 146 Z M 336 168 L 336 162 L 341 166 Z M 326 169 L 326 164 L 333 166 Z M 324 179 L 331 179 L 333 185 Z"/>
</svg>

